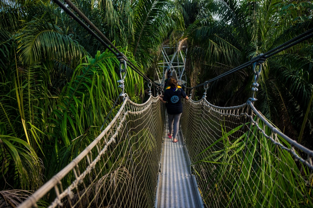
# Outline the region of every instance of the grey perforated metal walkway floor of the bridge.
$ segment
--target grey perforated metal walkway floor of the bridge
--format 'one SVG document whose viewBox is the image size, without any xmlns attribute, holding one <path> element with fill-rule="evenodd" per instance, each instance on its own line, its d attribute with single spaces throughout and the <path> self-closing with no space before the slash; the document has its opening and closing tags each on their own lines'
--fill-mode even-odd
<svg viewBox="0 0 313 208">
<path fill-rule="evenodd" d="M 167 137 L 167 133 L 166 122 L 155 207 L 203 207 L 195 177 L 191 174 L 190 159 L 184 147 L 182 134 L 178 132 L 178 142 L 173 143 L 172 139 Z"/>
</svg>

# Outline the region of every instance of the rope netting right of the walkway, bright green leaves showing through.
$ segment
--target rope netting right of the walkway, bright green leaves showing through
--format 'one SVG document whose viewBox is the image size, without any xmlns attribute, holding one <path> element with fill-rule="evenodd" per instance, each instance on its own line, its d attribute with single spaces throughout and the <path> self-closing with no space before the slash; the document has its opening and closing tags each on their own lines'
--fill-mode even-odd
<svg viewBox="0 0 313 208">
<path fill-rule="evenodd" d="M 313 207 L 313 152 L 247 102 L 184 102 L 181 129 L 207 207 Z"/>
</svg>

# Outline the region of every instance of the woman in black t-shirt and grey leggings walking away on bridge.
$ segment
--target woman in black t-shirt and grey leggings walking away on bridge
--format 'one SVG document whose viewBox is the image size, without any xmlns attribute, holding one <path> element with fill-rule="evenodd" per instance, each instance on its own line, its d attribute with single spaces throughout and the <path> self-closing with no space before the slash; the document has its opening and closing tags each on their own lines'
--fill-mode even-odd
<svg viewBox="0 0 313 208">
<path fill-rule="evenodd" d="M 189 99 L 181 86 L 177 85 L 177 81 L 171 77 L 167 80 L 167 87 L 164 90 L 163 98 L 159 99 L 166 103 L 167 116 L 168 116 L 168 129 L 167 134 L 169 138 L 173 138 L 173 142 L 178 142 L 177 133 L 179 128 L 179 119 L 182 115 L 182 98 Z M 174 126 L 174 128 L 173 128 Z"/>
</svg>

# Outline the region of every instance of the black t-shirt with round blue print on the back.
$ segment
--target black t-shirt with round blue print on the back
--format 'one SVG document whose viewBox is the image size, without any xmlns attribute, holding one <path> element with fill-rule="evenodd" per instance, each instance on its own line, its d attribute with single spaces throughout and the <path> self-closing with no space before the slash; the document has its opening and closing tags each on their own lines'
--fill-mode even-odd
<svg viewBox="0 0 313 208">
<path fill-rule="evenodd" d="M 174 115 L 182 113 L 182 98 L 186 98 L 187 94 L 181 88 L 181 86 L 177 86 L 177 88 L 173 89 L 170 86 L 167 86 L 164 91 L 163 100 L 167 101 L 166 109 L 167 113 Z"/>
</svg>

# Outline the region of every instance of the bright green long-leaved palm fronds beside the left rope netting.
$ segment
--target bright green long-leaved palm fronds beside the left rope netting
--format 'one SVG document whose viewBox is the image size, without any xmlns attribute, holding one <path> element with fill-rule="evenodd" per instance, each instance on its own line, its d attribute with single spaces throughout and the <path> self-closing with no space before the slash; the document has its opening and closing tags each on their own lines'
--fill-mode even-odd
<svg viewBox="0 0 313 208">
<path fill-rule="evenodd" d="M 126 49 L 120 49 L 132 60 Z M 119 60 L 109 51 L 98 51 L 95 58 L 86 57 L 87 63 L 80 64 L 70 82 L 64 86 L 52 110 L 48 122 L 51 145 L 55 144 L 54 159 L 66 165 L 98 135 L 100 126 L 119 97 Z M 136 62 L 132 60 L 136 65 Z M 138 65 L 139 67 L 139 65 Z M 141 67 L 139 67 L 141 68 Z M 143 80 L 130 68 L 126 70 L 126 93 L 137 96 L 143 93 Z M 63 166 L 55 167 L 60 170 Z M 51 170 L 56 172 L 57 170 Z"/>
</svg>

